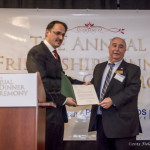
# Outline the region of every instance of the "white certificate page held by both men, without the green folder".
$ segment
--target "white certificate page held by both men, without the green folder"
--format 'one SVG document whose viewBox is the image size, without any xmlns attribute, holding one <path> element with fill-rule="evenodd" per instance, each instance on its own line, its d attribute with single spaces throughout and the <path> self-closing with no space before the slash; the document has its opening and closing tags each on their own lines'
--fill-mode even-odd
<svg viewBox="0 0 150 150">
<path fill-rule="evenodd" d="M 95 88 L 92 84 L 72 86 L 78 105 L 93 105 L 99 103 Z"/>
</svg>

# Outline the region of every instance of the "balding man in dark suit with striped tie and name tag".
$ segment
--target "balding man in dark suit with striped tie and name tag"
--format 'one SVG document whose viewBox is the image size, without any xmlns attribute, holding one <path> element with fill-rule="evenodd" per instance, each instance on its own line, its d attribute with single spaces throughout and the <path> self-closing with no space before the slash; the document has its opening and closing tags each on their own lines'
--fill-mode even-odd
<svg viewBox="0 0 150 150">
<path fill-rule="evenodd" d="M 125 41 L 113 38 L 109 60 L 95 67 L 91 80 L 100 99 L 92 106 L 89 124 L 89 131 L 97 131 L 98 150 L 133 150 L 131 143 L 141 131 L 137 107 L 141 71 L 124 61 L 125 51 Z M 108 79 L 109 63 L 113 64 Z"/>
</svg>

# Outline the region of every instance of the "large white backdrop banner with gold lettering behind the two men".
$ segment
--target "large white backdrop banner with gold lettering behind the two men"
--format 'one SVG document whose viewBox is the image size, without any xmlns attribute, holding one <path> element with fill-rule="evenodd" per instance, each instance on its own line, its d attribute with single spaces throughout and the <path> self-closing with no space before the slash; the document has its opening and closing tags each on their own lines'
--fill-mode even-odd
<svg viewBox="0 0 150 150">
<path fill-rule="evenodd" d="M 125 39 L 125 60 L 142 71 L 138 107 L 143 133 L 137 139 L 150 140 L 150 11 L 0 9 L 0 73 L 27 73 L 27 53 L 44 39 L 53 20 L 69 27 L 58 50 L 63 69 L 82 81 L 90 81 L 95 65 L 108 59 L 111 38 Z M 64 140 L 95 140 L 96 133 L 88 133 L 91 106 L 67 110 Z"/>
</svg>

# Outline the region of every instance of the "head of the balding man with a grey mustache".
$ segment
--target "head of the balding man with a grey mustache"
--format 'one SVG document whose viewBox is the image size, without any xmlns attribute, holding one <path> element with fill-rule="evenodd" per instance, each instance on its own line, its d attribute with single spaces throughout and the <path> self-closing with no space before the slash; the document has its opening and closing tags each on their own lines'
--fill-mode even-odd
<svg viewBox="0 0 150 150">
<path fill-rule="evenodd" d="M 126 42 L 120 37 L 115 37 L 110 41 L 109 45 L 109 60 L 118 62 L 123 59 L 126 51 Z"/>
</svg>

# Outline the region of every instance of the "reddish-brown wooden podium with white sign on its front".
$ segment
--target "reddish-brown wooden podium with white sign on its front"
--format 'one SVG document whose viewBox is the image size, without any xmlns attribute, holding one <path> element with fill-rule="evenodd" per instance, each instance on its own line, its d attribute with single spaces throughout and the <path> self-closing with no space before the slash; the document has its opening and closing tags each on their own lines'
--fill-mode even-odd
<svg viewBox="0 0 150 150">
<path fill-rule="evenodd" d="M 45 100 L 39 73 L 0 74 L 0 150 L 45 150 Z"/>
</svg>

